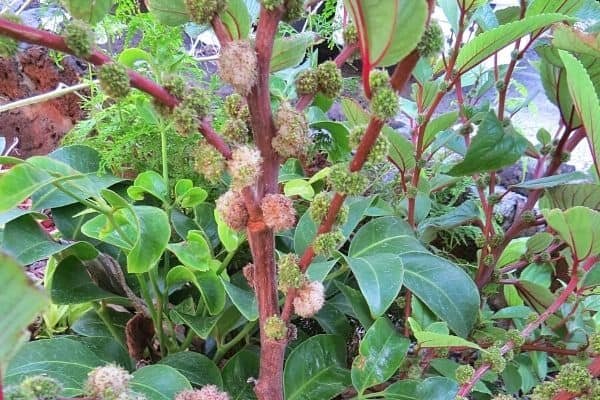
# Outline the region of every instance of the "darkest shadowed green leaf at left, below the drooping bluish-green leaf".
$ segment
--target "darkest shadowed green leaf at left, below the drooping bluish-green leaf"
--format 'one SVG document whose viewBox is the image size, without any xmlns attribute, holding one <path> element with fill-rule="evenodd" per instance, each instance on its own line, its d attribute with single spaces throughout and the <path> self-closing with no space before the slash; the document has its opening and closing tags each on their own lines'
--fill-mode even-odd
<svg viewBox="0 0 600 400">
<path fill-rule="evenodd" d="M 55 304 L 81 304 L 119 297 L 98 287 L 83 263 L 73 256 L 58 262 L 48 289 Z"/>
</svg>

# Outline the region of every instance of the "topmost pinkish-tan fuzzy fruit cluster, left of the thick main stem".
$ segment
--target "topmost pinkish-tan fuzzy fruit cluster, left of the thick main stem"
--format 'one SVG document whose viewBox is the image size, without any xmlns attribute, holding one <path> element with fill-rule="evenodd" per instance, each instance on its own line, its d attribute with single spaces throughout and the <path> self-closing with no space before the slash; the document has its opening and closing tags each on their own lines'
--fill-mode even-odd
<svg viewBox="0 0 600 400">
<path fill-rule="evenodd" d="M 219 72 L 221 79 L 229 83 L 241 95 L 250 93 L 256 83 L 258 59 L 250 42 L 235 40 L 221 49 Z"/>
</svg>

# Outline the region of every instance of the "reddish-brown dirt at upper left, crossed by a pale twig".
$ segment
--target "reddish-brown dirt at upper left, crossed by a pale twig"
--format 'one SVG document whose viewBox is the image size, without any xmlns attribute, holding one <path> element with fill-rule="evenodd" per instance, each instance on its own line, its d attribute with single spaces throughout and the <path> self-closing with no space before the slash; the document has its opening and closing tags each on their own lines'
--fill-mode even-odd
<svg viewBox="0 0 600 400">
<path fill-rule="evenodd" d="M 0 59 L 0 103 L 49 92 L 61 82 L 76 84 L 84 71 L 85 67 L 71 57 L 59 68 L 46 49 L 29 47 L 15 58 Z M 69 94 L 0 114 L 0 136 L 8 143 L 18 138 L 16 155 L 20 157 L 47 154 L 83 117 L 80 98 Z"/>
</svg>

